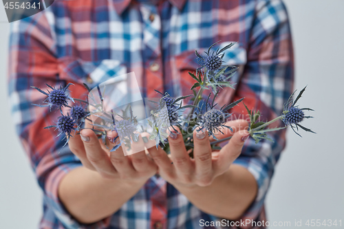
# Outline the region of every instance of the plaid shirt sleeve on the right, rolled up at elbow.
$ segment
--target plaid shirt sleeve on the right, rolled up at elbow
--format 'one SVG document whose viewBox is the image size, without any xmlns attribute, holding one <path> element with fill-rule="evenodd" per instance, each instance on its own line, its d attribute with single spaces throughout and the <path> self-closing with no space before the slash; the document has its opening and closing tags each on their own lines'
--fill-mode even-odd
<svg viewBox="0 0 344 229">
<path fill-rule="evenodd" d="M 248 61 L 235 90 L 235 100 L 244 97 L 249 109 L 261 112 L 262 121 L 272 120 L 281 115 L 283 104 L 292 94 L 294 79 L 290 25 L 282 1 L 257 1 L 248 47 Z M 242 103 L 232 113 L 234 117 L 248 118 Z M 280 121 L 269 128 L 283 126 Z M 270 179 L 286 144 L 286 129 L 270 132 L 269 137 L 274 142 L 263 140 L 255 144 L 249 138 L 234 162 L 247 168 L 258 186 L 255 201 L 242 216 L 243 220 L 255 220 L 261 214 Z"/>
</svg>

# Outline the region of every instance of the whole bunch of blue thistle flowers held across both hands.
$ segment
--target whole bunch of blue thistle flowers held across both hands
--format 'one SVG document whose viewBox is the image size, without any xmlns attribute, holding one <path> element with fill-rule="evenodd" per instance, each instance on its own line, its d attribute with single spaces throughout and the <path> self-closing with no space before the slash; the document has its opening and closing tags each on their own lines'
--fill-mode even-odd
<svg viewBox="0 0 344 229">
<path fill-rule="evenodd" d="M 149 139 L 155 141 L 156 147 L 162 146 L 166 152 L 169 152 L 169 134 L 180 134 L 178 131 L 173 131 L 175 127 L 182 130 L 181 134 L 186 149 L 191 153 L 191 156 L 193 151 L 193 131 L 195 129 L 197 131 L 207 131 L 208 135 L 213 137 L 213 141 L 211 142 L 213 149 L 218 149 L 219 146 L 217 145 L 219 142 L 230 139 L 230 137 L 228 137 L 218 140 L 217 137 L 220 134 L 224 134 L 226 129 L 232 130 L 231 127 L 227 125 L 228 118 L 231 115 L 229 113 L 230 109 L 238 105 L 239 102 L 242 102 L 244 98 L 222 107 L 219 107 L 219 105 L 215 103 L 215 98 L 217 98 L 219 91 L 224 87 L 233 88 L 233 85 L 230 83 L 230 78 L 237 71 L 237 67 L 224 65 L 223 61 L 224 52 L 232 47 L 234 45 L 233 43 L 223 47 L 221 50 L 217 49 L 216 51 L 212 50 L 214 45 L 211 45 L 208 51 L 204 52 L 203 55 L 199 54 L 197 50 L 195 51 L 200 67 L 195 69 L 195 74 L 189 72 L 190 77 L 195 80 L 194 85 L 191 87 L 191 91 L 193 92 L 191 95 L 173 98 L 167 93 L 157 91 L 157 93 L 160 94 L 160 99 L 158 102 L 151 101 L 154 102 L 156 106 L 155 109 L 151 110 L 151 116 L 148 119 L 150 129 Z M 68 84 L 65 87 L 61 86 L 57 89 L 47 85 L 51 89 L 48 89 L 47 92 L 34 87 L 47 96 L 43 101 L 43 105 L 36 106 L 50 107 L 50 109 L 57 108 L 61 111 L 61 117 L 58 118 L 55 125 L 45 128 L 49 129 L 54 127 L 58 129 L 60 132 L 58 135 L 64 134 L 67 139 L 65 144 L 67 144 L 69 138 L 74 135 L 73 133 L 85 128 L 85 120 L 90 120 L 89 116 L 92 114 L 92 112 L 89 111 L 89 107 L 94 107 L 96 114 L 93 114 L 99 118 L 98 122 L 93 122 L 92 130 L 97 133 L 104 144 L 106 144 L 107 131 L 116 131 L 118 133 L 120 142 L 118 142 L 111 151 L 116 151 L 122 144 L 130 147 L 131 142 L 137 140 L 140 131 L 147 131 L 147 128 L 144 129 L 143 127 L 139 127 L 140 124 L 136 120 L 136 117 L 133 116 L 133 110 L 130 105 L 122 110 L 121 114 L 115 113 L 114 110 L 105 111 L 102 109 L 103 96 L 99 87 L 97 88 L 101 101 L 100 105 L 88 100 L 71 98 L 68 94 L 70 85 L 72 84 Z M 91 91 L 87 85 L 85 85 L 85 87 L 89 92 Z M 290 126 L 295 133 L 297 133 L 299 128 L 314 133 L 312 130 L 300 124 L 305 118 L 312 118 L 311 116 L 305 116 L 304 111 L 313 111 L 310 108 L 299 108 L 297 105 L 304 91 L 305 88 L 303 88 L 297 98 L 293 100 L 294 91 L 283 107 L 281 116 L 267 122 L 261 121 L 261 113 L 259 111 L 252 111 L 245 105 L 248 116 L 250 117 L 248 132 L 256 143 L 261 140 L 272 140 L 269 138 L 268 132 L 279 131 L 288 126 Z M 207 94 L 207 96 L 205 94 Z M 183 105 L 183 101 L 185 101 L 186 98 L 189 98 L 189 103 Z M 69 101 L 74 102 L 74 105 L 69 106 Z M 80 104 L 76 105 L 75 101 Z M 70 108 L 67 115 L 63 114 L 62 107 Z M 273 129 L 267 128 L 270 124 L 279 120 L 283 121 L 285 124 L 284 127 Z M 300 135 L 299 133 L 297 134 Z"/>
</svg>

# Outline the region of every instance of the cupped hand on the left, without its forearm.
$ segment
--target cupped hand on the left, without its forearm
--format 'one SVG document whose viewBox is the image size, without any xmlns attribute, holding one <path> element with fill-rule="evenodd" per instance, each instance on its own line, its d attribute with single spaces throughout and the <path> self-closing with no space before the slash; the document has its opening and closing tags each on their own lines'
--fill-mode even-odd
<svg viewBox="0 0 344 229">
<path fill-rule="evenodd" d="M 87 124 L 87 127 L 91 127 Z M 107 146 L 98 140 L 91 129 L 83 129 L 80 135 L 69 140 L 69 149 L 80 159 L 83 166 L 97 171 L 102 177 L 109 179 L 123 179 L 142 182 L 157 172 L 157 166 L 144 152 L 144 135 L 140 135 L 138 142 L 132 142 L 133 150 L 138 151 L 125 156 L 122 147 L 110 152 L 115 146 L 116 131 L 107 133 Z M 118 140 L 119 141 L 119 140 Z"/>
</svg>

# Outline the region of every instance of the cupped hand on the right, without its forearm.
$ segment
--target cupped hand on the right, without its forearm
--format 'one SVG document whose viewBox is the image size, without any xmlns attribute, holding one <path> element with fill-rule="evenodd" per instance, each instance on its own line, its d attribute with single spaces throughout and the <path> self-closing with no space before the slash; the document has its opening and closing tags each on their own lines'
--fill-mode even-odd
<svg viewBox="0 0 344 229">
<path fill-rule="evenodd" d="M 160 147 L 149 149 L 151 157 L 159 167 L 160 175 L 177 188 L 211 185 L 215 177 L 228 171 L 249 136 L 245 130 L 248 127 L 245 120 L 227 122 L 226 126 L 232 127 L 233 132 L 228 129 L 226 134 L 219 134 L 217 138 L 227 138 L 230 135 L 233 135 L 233 138 L 220 151 L 212 152 L 208 133 L 196 130 L 193 132 L 194 158 L 189 157 L 179 133 L 169 136 L 171 159 Z"/>
</svg>

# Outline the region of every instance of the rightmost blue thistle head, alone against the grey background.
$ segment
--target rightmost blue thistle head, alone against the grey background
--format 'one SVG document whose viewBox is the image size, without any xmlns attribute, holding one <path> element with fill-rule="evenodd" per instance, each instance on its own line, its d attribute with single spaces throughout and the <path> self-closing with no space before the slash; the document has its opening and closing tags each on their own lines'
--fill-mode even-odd
<svg viewBox="0 0 344 229">
<path fill-rule="evenodd" d="M 297 101 L 301 98 L 306 87 L 304 87 L 300 91 L 297 98 L 293 101 L 292 96 L 294 96 L 294 93 L 296 92 L 296 91 L 294 91 L 294 93 L 288 99 L 288 102 L 286 103 L 286 105 L 284 105 L 284 107 L 283 107 L 283 113 L 281 116 L 281 120 L 284 122 L 284 124 L 286 124 L 286 126 L 290 126 L 295 133 L 297 133 L 297 131 L 295 131 L 294 128 L 299 130 L 299 127 L 301 129 L 303 129 L 304 131 L 315 133 L 311 129 L 305 128 L 300 124 L 300 122 L 302 122 L 303 119 L 305 119 L 305 118 L 313 118 L 312 116 L 305 116 L 305 113 L 303 111 L 304 110 L 314 111 L 314 110 L 310 109 L 310 108 L 299 108 L 299 106 L 296 105 Z M 297 133 L 297 135 L 299 135 L 301 137 L 301 135 L 299 133 Z"/>
</svg>

